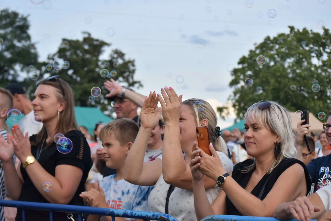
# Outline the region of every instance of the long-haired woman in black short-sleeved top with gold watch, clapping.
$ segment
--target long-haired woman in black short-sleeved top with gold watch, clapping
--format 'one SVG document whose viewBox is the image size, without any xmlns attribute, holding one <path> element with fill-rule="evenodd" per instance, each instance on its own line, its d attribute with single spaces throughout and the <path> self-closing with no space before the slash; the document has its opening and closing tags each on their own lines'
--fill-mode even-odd
<svg viewBox="0 0 331 221">
<path fill-rule="evenodd" d="M 88 143 L 76 123 L 73 92 L 55 76 L 39 82 L 34 96 L 34 113 L 43 119 L 41 131 L 29 138 L 14 125 L 8 143 L 0 137 L 7 193 L 19 201 L 84 205 L 79 194 L 85 189 L 92 160 Z M 68 141 L 59 148 L 54 141 L 58 133 L 64 134 Z M 14 153 L 22 162 L 17 170 L 12 160 Z M 53 212 L 53 220 L 68 220 L 67 215 Z M 76 215 L 73 217 L 77 219 Z M 26 221 L 49 218 L 48 211 L 25 209 Z M 16 221 L 20 220 L 22 210 L 18 208 Z"/>
</svg>

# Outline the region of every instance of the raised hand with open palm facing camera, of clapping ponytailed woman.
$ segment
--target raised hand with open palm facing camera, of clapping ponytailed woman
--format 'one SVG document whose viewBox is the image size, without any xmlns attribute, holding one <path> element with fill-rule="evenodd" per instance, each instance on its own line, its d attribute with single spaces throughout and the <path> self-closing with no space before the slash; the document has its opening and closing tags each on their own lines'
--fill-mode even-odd
<svg viewBox="0 0 331 221">
<path fill-rule="evenodd" d="M 140 111 L 140 124 L 143 128 L 155 128 L 160 120 L 162 108 L 158 106 L 159 99 L 155 92 L 150 92 L 145 98 L 144 104 Z"/>
</svg>

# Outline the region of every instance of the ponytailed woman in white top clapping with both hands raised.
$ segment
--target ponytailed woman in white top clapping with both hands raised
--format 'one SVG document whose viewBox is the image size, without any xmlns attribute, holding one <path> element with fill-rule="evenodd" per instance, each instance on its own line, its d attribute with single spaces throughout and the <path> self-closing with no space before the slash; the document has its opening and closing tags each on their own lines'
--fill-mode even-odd
<svg viewBox="0 0 331 221">
<path fill-rule="evenodd" d="M 194 104 L 198 99 L 182 103 L 181 96 L 177 96 L 171 87 L 165 87 L 161 93 L 164 100 L 155 92 L 151 92 L 145 99 L 140 112 L 141 127 L 125 161 L 124 179 L 136 185 L 155 185 L 148 198 L 151 211 L 166 212 L 178 220 L 197 220 L 189 167 L 192 146 L 197 145 L 197 126 L 208 127 L 210 142 L 218 151 L 226 171 L 231 172 L 233 166 L 227 157 L 226 144 L 220 137 L 220 130 L 216 127 L 216 113 L 210 104 L 200 100 L 204 106 L 196 106 Z M 157 108 L 158 101 L 162 108 Z M 144 162 L 148 140 L 152 129 L 158 124 L 161 111 L 165 121 L 163 152 L 154 161 Z M 174 186 L 173 189 L 170 184 Z M 204 189 L 212 203 L 220 188 L 216 187 L 214 180 L 206 177 Z"/>
</svg>

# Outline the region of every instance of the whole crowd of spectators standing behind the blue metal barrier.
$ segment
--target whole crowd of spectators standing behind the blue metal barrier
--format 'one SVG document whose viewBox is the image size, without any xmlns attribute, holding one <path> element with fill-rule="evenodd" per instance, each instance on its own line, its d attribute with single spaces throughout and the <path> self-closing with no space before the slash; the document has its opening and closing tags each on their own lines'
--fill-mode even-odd
<svg viewBox="0 0 331 221">
<path fill-rule="evenodd" d="M 322 133 L 308 136 L 304 120 L 293 132 L 286 108 L 260 101 L 246 111 L 244 132 L 221 134 L 205 100 L 184 100 L 171 87 L 144 96 L 113 79 L 104 85 L 117 120 L 96 123 L 92 135 L 77 125 L 73 92 L 58 76 L 40 81 L 32 101 L 21 85 L 0 88 L 1 199 L 153 211 L 183 221 L 221 214 L 331 219 L 331 111 Z M 12 109 L 24 118 L 9 129 Z M 35 113 L 42 124 L 32 124 Z M 211 155 L 197 145 L 199 126 L 208 128 Z M 72 141 L 70 152 L 58 151 L 58 133 Z M 20 208 L 0 212 L 1 221 L 22 220 Z M 24 215 L 49 220 L 48 211 Z M 55 221 L 70 217 L 78 219 L 53 212 Z"/>
</svg>

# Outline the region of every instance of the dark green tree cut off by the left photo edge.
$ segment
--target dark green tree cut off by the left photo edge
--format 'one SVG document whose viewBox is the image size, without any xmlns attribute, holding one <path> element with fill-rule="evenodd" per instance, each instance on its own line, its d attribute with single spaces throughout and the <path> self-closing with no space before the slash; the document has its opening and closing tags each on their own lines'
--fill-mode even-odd
<svg viewBox="0 0 331 221">
<path fill-rule="evenodd" d="M 28 66 L 38 62 L 29 27 L 28 16 L 9 9 L 0 11 L 0 87 L 22 82 Z"/>
</svg>

